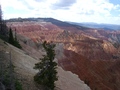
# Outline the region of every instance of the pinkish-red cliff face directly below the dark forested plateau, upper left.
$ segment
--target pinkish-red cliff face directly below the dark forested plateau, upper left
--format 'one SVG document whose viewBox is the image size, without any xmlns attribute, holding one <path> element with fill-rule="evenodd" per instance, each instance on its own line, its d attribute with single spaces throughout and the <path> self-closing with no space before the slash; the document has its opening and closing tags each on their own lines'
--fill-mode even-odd
<svg viewBox="0 0 120 90">
<path fill-rule="evenodd" d="M 57 26 L 46 22 L 11 22 L 7 25 L 16 30 L 18 34 L 27 36 L 35 42 L 52 41 L 62 32 Z"/>
</svg>

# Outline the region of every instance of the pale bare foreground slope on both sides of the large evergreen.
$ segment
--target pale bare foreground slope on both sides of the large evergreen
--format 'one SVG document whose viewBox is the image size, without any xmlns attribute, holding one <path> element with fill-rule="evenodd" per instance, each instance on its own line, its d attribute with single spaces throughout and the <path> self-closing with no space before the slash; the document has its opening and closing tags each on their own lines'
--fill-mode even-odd
<svg viewBox="0 0 120 90">
<path fill-rule="evenodd" d="M 0 51 L 3 51 L 5 57 L 8 57 L 11 52 L 11 60 L 15 66 L 15 75 L 19 78 L 23 85 L 23 90 L 44 90 L 42 87 L 36 87 L 33 76 L 37 72 L 33 69 L 37 59 L 27 55 L 26 52 L 15 48 L 12 45 L 4 44 L 0 40 Z M 0 53 L 1 54 L 1 53 Z M 39 53 L 40 55 L 41 53 Z M 42 53 L 44 54 L 44 52 Z M 39 56 L 40 57 L 40 56 Z M 61 67 L 57 68 L 58 81 L 56 82 L 56 90 L 90 90 L 90 88 L 81 81 L 77 75 L 70 71 L 64 71 Z"/>
</svg>

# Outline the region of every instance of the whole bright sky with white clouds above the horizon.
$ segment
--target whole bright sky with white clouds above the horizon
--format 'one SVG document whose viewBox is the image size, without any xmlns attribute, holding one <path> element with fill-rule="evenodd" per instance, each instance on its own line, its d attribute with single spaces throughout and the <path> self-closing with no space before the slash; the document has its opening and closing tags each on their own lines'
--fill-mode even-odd
<svg viewBox="0 0 120 90">
<path fill-rule="evenodd" d="M 3 18 L 43 17 L 120 25 L 120 0 L 0 0 Z"/>
</svg>

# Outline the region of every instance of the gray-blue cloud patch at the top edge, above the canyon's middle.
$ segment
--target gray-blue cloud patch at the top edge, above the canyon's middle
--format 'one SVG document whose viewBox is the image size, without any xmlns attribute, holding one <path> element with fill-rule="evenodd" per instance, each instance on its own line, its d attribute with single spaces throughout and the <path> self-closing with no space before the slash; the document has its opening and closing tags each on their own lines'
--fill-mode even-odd
<svg viewBox="0 0 120 90">
<path fill-rule="evenodd" d="M 53 9 L 69 9 L 77 0 L 59 0 L 52 5 Z"/>
</svg>

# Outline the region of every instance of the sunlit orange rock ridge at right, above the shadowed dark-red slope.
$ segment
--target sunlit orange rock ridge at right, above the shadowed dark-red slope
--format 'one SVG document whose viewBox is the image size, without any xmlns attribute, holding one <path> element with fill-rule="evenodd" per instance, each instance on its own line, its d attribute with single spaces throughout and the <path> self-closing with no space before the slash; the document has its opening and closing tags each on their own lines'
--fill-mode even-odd
<svg viewBox="0 0 120 90">
<path fill-rule="evenodd" d="M 73 43 L 65 43 L 65 49 L 83 55 L 89 60 L 111 60 L 112 55 L 116 54 L 116 48 L 107 41 L 88 40 Z"/>
</svg>

